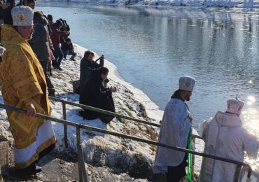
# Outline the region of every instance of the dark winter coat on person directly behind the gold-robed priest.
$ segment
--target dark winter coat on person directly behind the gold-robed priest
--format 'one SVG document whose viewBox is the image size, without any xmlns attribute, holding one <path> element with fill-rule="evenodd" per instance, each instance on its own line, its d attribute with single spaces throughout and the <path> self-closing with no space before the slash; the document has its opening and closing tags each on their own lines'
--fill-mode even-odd
<svg viewBox="0 0 259 182">
<path fill-rule="evenodd" d="M 34 18 L 34 34 L 32 34 L 31 48 L 37 55 L 40 62 L 48 62 L 51 60 L 50 40 L 48 33 L 48 20 L 44 17 Z"/>
</svg>

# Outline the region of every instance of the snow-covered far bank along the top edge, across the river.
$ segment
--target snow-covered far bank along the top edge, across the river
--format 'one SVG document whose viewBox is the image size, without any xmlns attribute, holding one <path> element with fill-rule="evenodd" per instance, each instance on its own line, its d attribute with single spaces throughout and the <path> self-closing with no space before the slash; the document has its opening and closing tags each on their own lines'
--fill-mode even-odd
<svg viewBox="0 0 259 182">
<path fill-rule="evenodd" d="M 51 2 L 52 0 L 41 0 Z M 41 2 L 40 1 L 40 2 Z M 56 2 L 64 2 L 66 0 L 55 0 Z M 92 5 L 125 5 L 125 6 L 162 6 L 162 7 L 172 7 L 172 6 L 192 6 L 192 7 L 222 7 L 222 8 L 259 8 L 259 3 L 253 0 L 242 1 L 242 0 L 232 0 L 232 1 L 212 1 L 212 0 L 70 0 L 73 3 L 90 3 Z"/>
</svg>

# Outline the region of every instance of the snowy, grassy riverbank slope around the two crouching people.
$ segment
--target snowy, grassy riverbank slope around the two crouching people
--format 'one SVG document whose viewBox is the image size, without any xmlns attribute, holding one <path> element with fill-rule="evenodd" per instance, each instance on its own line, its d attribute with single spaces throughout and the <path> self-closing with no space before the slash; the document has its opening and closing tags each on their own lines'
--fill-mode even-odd
<svg viewBox="0 0 259 182">
<path fill-rule="evenodd" d="M 54 69 L 51 77 L 53 85 L 55 85 L 56 95 L 59 98 L 67 99 L 71 102 L 78 103 L 78 94 L 72 93 L 73 80 L 78 80 L 80 59 L 83 57 L 85 48 L 74 45 L 78 56 L 76 62 L 69 59 L 63 60 L 62 69 L 58 71 Z M 95 55 L 97 58 L 98 56 Z M 113 94 L 116 112 L 125 116 L 148 120 L 150 122 L 159 123 L 162 119 L 162 111 L 158 109 L 151 99 L 144 92 L 125 82 L 118 76 L 116 66 L 105 60 L 104 66 L 109 68 L 109 85 L 117 87 L 118 92 Z M 3 103 L 2 97 L 0 102 Z M 51 101 L 52 117 L 62 118 L 62 104 Z M 130 120 L 114 118 L 111 123 L 105 125 L 101 120 L 83 120 L 78 116 L 79 108 L 66 105 L 66 118 L 76 123 L 100 127 L 107 130 L 113 130 L 123 134 L 129 134 L 134 137 L 150 139 L 157 141 L 158 130 L 156 127 L 143 125 Z M 0 132 L 4 134 L 9 141 L 13 141 L 8 131 L 8 119 L 6 111 L 0 110 Z M 64 128 L 62 124 L 53 123 L 57 144 L 55 150 L 57 153 L 66 151 L 64 147 Z M 97 167 L 109 167 L 116 174 L 130 174 L 134 179 L 150 179 L 152 177 L 151 165 L 155 157 L 155 146 L 132 141 L 130 139 L 121 139 L 108 134 L 100 134 L 98 132 L 90 132 L 81 130 L 81 141 L 83 153 L 87 163 Z M 68 127 L 69 148 L 76 152 L 76 129 Z"/>
</svg>

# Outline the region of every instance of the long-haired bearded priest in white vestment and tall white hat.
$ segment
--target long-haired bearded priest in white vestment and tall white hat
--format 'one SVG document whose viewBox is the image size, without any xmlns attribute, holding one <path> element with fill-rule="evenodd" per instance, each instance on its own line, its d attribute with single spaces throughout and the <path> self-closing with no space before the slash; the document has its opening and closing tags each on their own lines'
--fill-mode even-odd
<svg viewBox="0 0 259 182">
<path fill-rule="evenodd" d="M 183 76 L 179 79 L 179 90 L 174 92 L 165 108 L 158 142 L 169 146 L 187 147 L 192 117 L 186 101 L 190 100 L 194 85 L 195 79 L 192 77 Z M 165 173 L 168 182 L 178 182 L 186 176 L 186 160 L 186 153 L 158 146 L 153 172 Z"/>
</svg>

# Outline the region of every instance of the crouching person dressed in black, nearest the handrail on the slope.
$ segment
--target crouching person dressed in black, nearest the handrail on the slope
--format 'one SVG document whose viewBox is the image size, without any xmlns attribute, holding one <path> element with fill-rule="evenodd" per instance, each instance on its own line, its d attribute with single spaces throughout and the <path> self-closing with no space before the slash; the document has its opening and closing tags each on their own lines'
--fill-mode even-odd
<svg viewBox="0 0 259 182">
<path fill-rule="evenodd" d="M 112 92 L 116 92 L 116 87 L 104 88 L 104 80 L 106 80 L 108 73 L 109 69 L 106 67 L 100 67 L 92 72 L 92 76 L 87 80 L 85 85 L 83 85 L 80 92 L 80 104 L 115 112 Z M 87 109 L 80 111 L 80 115 L 87 120 L 100 118 L 103 123 L 109 123 L 114 118 L 114 116 Z"/>
</svg>

